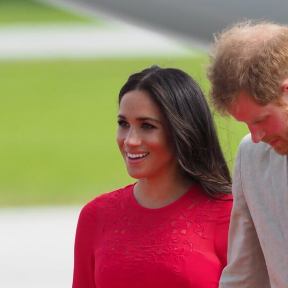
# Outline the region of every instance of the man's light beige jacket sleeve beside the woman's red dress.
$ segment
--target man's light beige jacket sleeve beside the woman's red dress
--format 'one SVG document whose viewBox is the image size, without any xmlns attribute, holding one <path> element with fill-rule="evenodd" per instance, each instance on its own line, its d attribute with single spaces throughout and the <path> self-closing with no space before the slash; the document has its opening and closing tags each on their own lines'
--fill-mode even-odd
<svg viewBox="0 0 288 288">
<path fill-rule="evenodd" d="M 249 169 L 250 165 L 247 163 L 241 169 L 242 147 L 240 144 L 233 173 L 234 201 L 228 236 L 228 263 L 222 272 L 219 288 L 270 288 L 265 259 L 243 193 L 241 171 Z"/>
</svg>

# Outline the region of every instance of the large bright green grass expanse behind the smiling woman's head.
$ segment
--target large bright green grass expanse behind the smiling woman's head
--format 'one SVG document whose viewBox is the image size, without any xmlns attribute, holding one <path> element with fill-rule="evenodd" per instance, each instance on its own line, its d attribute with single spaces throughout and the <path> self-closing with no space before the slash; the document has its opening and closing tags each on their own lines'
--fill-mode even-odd
<svg viewBox="0 0 288 288">
<path fill-rule="evenodd" d="M 0 62 L 0 205 L 83 204 L 133 182 L 115 141 L 119 89 L 131 73 L 158 64 L 183 69 L 207 92 L 206 61 Z M 231 160 L 247 130 L 216 121 Z"/>
</svg>

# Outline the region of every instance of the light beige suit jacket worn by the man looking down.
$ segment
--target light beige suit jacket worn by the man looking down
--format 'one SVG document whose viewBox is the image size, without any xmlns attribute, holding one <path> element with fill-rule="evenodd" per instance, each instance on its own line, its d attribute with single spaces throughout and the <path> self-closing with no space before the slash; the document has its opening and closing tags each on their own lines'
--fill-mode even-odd
<svg viewBox="0 0 288 288">
<path fill-rule="evenodd" d="M 288 156 L 242 140 L 220 288 L 288 288 Z"/>
</svg>

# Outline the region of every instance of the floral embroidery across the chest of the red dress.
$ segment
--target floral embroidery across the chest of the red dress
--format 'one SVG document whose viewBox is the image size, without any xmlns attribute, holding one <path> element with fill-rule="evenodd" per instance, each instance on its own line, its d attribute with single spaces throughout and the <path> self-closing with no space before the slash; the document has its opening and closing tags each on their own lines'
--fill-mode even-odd
<svg viewBox="0 0 288 288">
<path fill-rule="evenodd" d="M 127 277 L 128 271 L 132 275 L 135 268 L 144 273 L 147 265 L 157 265 L 158 270 L 165 270 L 167 263 L 172 263 L 169 269 L 173 273 L 183 273 L 186 270 L 186 256 L 194 250 L 193 237 L 205 238 L 208 203 L 199 205 L 200 200 L 196 199 L 172 220 L 170 215 L 161 215 L 154 218 L 154 222 L 144 221 L 146 227 L 143 227 L 140 226 L 140 216 L 129 217 L 123 199 L 120 190 L 106 202 L 108 213 L 104 216 L 103 233 L 109 235 L 109 240 L 103 243 L 105 257 L 99 271 L 106 271 L 106 263 L 112 262 L 110 268 L 114 271 L 124 270 Z"/>
</svg>

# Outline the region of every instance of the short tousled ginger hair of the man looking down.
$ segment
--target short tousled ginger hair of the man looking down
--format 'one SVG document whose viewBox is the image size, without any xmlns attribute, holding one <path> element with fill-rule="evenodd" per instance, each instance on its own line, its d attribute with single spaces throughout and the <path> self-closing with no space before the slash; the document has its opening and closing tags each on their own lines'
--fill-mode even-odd
<svg viewBox="0 0 288 288">
<path fill-rule="evenodd" d="M 226 115 L 243 90 L 261 105 L 280 99 L 288 77 L 288 26 L 247 20 L 214 38 L 207 76 L 216 110 Z"/>
</svg>

